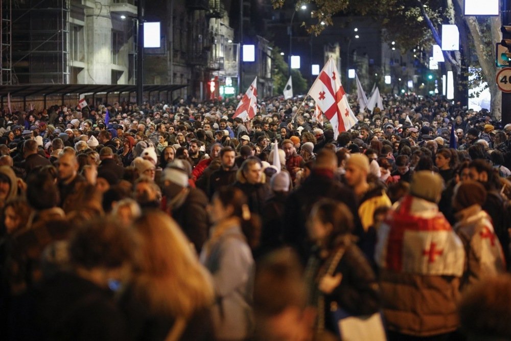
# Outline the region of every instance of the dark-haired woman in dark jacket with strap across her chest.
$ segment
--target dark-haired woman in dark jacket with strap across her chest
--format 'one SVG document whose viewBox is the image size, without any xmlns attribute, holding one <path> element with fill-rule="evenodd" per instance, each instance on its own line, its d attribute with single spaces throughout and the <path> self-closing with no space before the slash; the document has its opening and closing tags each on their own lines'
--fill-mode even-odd
<svg viewBox="0 0 511 341">
<path fill-rule="evenodd" d="M 373 315 L 380 308 L 376 275 L 356 246 L 353 228 L 353 215 L 343 203 L 322 199 L 311 210 L 307 232 L 314 252 L 307 281 L 311 303 L 317 309 L 318 339 L 337 333 L 337 321 L 329 318 L 335 307 L 351 316 Z M 384 335 L 383 324 L 379 327 Z"/>
</svg>

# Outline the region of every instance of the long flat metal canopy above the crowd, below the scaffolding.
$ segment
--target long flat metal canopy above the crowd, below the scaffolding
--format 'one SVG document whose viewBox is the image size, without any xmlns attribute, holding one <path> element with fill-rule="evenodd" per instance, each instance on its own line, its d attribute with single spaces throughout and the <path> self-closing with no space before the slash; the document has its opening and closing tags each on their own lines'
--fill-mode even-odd
<svg viewBox="0 0 511 341">
<path fill-rule="evenodd" d="M 146 84 L 144 92 L 174 91 L 187 86 L 187 84 Z M 0 97 L 28 97 L 70 94 L 102 94 L 102 93 L 133 93 L 136 85 L 131 84 L 25 84 L 0 86 Z"/>
</svg>

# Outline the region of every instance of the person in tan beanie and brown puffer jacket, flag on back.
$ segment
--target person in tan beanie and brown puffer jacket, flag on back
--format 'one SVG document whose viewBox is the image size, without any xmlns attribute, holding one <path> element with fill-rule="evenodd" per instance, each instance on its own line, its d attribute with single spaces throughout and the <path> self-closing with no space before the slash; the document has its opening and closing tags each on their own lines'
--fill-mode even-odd
<svg viewBox="0 0 511 341">
<path fill-rule="evenodd" d="M 380 225 L 375 260 L 390 340 L 449 339 L 464 270 L 463 244 L 438 211 L 443 179 L 413 175 L 410 193 Z"/>
</svg>

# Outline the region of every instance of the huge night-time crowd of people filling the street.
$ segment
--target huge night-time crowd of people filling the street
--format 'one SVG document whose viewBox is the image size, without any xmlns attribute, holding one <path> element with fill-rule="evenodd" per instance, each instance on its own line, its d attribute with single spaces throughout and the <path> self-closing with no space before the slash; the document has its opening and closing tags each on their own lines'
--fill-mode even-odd
<svg viewBox="0 0 511 341">
<path fill-rule="evenodd" d="M 511 124 L 351 104 L 4 109 L 2 335 L 511 339 Z"/>
</svg>

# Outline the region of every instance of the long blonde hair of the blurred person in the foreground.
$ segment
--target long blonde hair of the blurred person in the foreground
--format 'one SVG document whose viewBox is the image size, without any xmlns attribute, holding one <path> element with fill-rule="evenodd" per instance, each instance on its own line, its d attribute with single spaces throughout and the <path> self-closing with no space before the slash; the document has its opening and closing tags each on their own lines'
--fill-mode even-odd
<svg viewBox="0 0 511 341">
<path fill-rule="evenodd" d="M 148 211 L 134 229 L 140 241 L 134 291 L 150 311 L 189 318 L 213 304 L 212 280 L 172 218 Z"/>
</svg>

